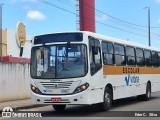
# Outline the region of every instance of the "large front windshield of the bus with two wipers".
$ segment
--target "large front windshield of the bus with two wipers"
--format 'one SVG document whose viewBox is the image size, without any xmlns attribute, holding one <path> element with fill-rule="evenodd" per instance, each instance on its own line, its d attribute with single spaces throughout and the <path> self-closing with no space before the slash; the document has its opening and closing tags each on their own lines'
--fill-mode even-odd
<svg viewBox="0 0 160 120">
<path fill-rule="evenodd" d="M 31 77 L 38 79 L 74 78 L 87 74 L 87 48 L 84 44 L 33 47 Z"/>
</svg>

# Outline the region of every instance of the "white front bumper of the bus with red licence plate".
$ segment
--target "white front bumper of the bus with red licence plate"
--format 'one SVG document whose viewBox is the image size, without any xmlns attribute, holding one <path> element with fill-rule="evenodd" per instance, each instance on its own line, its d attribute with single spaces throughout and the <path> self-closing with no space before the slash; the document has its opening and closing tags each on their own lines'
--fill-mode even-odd
<svg viewBox="0 0 160 120">
<path fill-rule="evenodd" d="M 83 92 L 72 95 L 39 95 L 32 92 L 32 104 L 93 104 L 91 92 Z"/>
</svg>

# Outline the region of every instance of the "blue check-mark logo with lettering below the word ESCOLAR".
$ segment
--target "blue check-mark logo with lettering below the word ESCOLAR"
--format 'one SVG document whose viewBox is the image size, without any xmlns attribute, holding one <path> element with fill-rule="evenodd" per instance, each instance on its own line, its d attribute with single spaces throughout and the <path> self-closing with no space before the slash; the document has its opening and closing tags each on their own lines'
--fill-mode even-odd
<svg viewBox="0 0 160 120">
<path fill-rule="evenodd" d="M 125 77 L 126 85 L 129 86 L 129 84 L 139 83 L 139 76 L 131 76 L 130 74 Z"/>
</svg>

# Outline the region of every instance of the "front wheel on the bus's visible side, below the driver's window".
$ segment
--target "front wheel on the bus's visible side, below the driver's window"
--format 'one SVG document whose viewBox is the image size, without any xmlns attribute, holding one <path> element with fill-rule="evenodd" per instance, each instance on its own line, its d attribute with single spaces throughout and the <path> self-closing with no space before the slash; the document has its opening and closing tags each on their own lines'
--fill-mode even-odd
<svg viewBox="0 0 160 120">
<path fill-rule="evenodd" d="M 100 103 L 101 111 L 108 111 L 109 109 L 111 109 L 112 98 L 113 98 L 112 91 L 108 87 L 106 87 L 104 91 L 103 102 Z"/>
</svg>

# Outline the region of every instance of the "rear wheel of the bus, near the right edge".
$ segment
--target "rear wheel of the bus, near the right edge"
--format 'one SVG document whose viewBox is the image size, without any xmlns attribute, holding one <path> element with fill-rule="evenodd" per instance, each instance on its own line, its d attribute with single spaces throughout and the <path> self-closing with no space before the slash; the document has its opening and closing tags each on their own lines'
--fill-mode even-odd
<svg viewBox="0 0 160 120">
<path fill-rule="evenodd" d="M 137 97 L 139 100 L 148 101 L 151 98 L 151 85 L 150 83 L 147 83 L 146 86 L 146 93 L 144 95 L 138 95 Z"/>
</svg>

